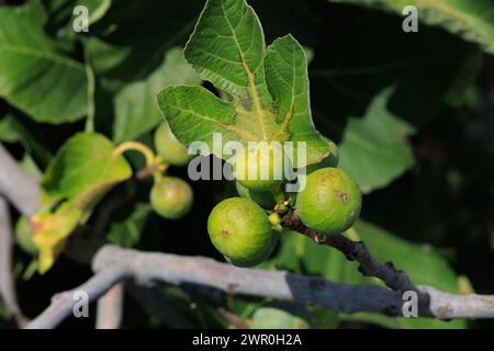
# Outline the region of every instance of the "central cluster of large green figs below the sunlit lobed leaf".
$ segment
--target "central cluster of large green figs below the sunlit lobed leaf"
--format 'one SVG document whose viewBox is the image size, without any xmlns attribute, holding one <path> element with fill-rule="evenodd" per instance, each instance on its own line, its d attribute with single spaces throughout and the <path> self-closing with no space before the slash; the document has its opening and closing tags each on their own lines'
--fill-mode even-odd
<svg viewBox="0 0 494 351">
<path fill-rule="evenodd" d="M 218 203 L 207 220 L 211 241 L 226 261 L 252 267 L 269 258 L 283 231 L 270 218 L 287 200 L 302 223 L 321 234 L 343 233 L 353 225 L 360 215 L 360 189 L 348 172 L 336 168 L 337 149 L 330 144 L 328 158 L 305 168 L 306 184 L 296 194 L 283 193 L 283 180 L 273 177 L 281 165 L 271 157 L 256 149 L 239 152 L 233 163 L 239 197 Z M 245 173 L 252 169 L 254 174 L 263 171 L 265 177 L 247 179 Z"/>
</svg>

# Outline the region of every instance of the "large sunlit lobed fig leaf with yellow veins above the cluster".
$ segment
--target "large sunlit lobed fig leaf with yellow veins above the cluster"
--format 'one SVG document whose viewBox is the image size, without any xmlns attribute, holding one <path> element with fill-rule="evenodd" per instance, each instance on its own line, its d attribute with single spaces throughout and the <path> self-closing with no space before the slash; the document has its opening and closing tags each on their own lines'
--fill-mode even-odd
<svg viewBox="0 0 494 351">
<path fill-rule="evenodd" d="M 245 0 L 209 0 L 186 58 L 224 100 L 197 87 L 159 92 L 161 112 L 182 144 L 211 144 L 213 133 L 223 133 L 223 140 L 293 140 L 295 147 L 304 141 L 306 163 L 329 156 L 329 141 L 312 123 L 303 48 L 285 36 L 267 50 L 260 23 Z"/>
</svg>

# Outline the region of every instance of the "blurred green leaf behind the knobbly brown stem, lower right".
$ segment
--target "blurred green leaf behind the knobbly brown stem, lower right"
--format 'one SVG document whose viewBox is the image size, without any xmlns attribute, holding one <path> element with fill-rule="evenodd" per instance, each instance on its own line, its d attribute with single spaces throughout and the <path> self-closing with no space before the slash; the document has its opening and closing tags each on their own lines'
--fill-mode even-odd
<svg viewBox="0 0 494 351">
<path fill-rule="evenodd" d="M 363 220 L 357 222 L 348 231 L 353 240 L 366 242 L 369 251 L 379 262 L 392 261 L 404 270 L 412 281 L 418 285 L 431 285 L 439 290 L 458 293 L 457 276 L 445 258 L 427 245 L 417 245 L 401 239 L 384 229 Z M 279 256 L 268 262 L 268 267 L 293 268 L 293 258 L 297 258 L 306 274 L 314 274 L 346 284 L 383 283 L 373 278 L 364 278 L 357 268 L 358 263 L 349 262 L 345 257 L 326 246 L 318 246 L 300 234 L 282 235 Z M 288 258 L 291 256 L 291 260 Z M 390 328 L 464 328 L 464 320 L 450 322 L 426 318 L 390 318 L 381 315 L 358 313 L 340 315 L 343 319 L 364 320 Z"/>
</svg>

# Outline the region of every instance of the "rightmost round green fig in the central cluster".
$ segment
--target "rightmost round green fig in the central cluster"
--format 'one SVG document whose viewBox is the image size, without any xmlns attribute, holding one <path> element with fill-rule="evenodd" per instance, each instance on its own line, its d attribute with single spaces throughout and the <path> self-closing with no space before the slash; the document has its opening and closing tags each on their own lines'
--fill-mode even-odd
<svg viewBox="0 0 494 351">
<path fill-rule="evenodd" d="M 360 214 L 362 195 L 353 178 L 337 168 L 308 174 L 296 199 L 296 214 L 310 228 L 337 234 L 350 228 Z"/>
</svg>

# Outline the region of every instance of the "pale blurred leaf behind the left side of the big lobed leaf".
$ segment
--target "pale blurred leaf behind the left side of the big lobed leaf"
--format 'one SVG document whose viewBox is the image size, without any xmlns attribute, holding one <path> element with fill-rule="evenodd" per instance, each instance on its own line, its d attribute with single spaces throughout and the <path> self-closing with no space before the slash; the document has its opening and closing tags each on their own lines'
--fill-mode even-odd
<svg viewBox="0 0 494 351">
<path fill-rule="evenodd" d="M 169 84 L 199 84 L 192 67 L 179 48 L 171 48 L 165 60 L 145 80 L 127 84 L 114 99 L 113 140 L 121 143 L 138 137 L 162 118 L 156 106 L 156 94 Z"/>
</svg>

